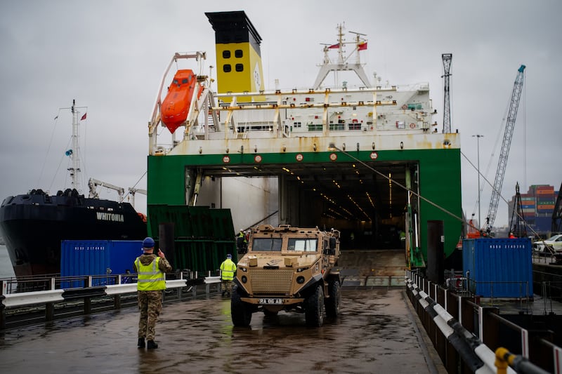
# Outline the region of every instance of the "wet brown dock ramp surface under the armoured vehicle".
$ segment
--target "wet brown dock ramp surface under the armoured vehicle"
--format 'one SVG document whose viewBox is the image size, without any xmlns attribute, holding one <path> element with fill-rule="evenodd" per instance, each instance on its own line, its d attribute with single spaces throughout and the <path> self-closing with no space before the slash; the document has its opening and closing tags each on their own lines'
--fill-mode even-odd
<svg viewBox="0 0 562 374">
<path fill-rule="evenodd" d="M 164 305 L 159 348 L 136 347 L 138 312 L 122 309 L 0 333 L 2 373 L 444 373 L 404 288 L 342 288 L 341 316 L 256 313 L 233 328 L 230 300 Z"/>
</svg>

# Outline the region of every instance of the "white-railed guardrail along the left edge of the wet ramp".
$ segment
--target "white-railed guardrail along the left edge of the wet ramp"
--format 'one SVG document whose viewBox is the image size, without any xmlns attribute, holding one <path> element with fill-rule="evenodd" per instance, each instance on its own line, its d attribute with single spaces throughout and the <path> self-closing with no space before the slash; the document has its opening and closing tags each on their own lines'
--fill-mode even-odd
<svg viewBox="0 0 562 374">
<path fill-rule="evenodd" d="M 0 330 L 137 304 L 136 274 L 0 279 Z M 218 293 L 221 278 L 189 270 L 166 274 L 164 302 Z"/>
</svg>

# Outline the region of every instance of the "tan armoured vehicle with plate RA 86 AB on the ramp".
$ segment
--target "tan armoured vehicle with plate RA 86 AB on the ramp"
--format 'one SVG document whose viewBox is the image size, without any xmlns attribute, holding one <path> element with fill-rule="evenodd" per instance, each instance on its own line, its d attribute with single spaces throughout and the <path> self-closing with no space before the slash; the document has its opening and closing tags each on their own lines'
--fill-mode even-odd
<svg viewBox="0 0 562 374">
<path fill-rule="evenodd" d="M 324 323 L 324 312 L 339 314 L 341 281 L 334 268 L 339 231 L 259 225 L 247 246 L 244 238 L 237 240 L 237 251 L 244 255 L 230 303 L 234 326 L 249 326 L 254 312 L 300 312 L 307 326 L 317 327 Z"/>
</svg>

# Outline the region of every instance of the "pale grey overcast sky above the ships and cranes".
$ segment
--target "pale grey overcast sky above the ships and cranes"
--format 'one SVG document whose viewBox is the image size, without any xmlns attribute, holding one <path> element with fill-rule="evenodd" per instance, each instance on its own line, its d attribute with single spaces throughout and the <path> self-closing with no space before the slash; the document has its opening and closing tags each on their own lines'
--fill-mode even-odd
<svg viewBox="0 0 562 374">
<path fill-rule="evenodd" d="M 266 88 L 273 89 L 275 79 L 282 88 L 310 88 L 323 57 L 320 44 L 335 43 L 336 25 L 345 22 L 347 32 L 367 34 L 363 61 L 369 76 L 377 72 L 398 85 L 429 82 L 439 130 L 441 55 L 452 53 L 452 129 L 461 133 L 462 153 L 474 165 L 473 135 L 484 136 L 480 168 L 490 183 L 517 69 L 526 65 L 502 196 L 511 199 L 516 182 L 523 193 L 530 185 L 560 187 L 559 0 L 6 0 L 0 2 L 0 199 L 32 188 L 55 193 L 70 187 L 64 152 L 71 116 L 59 109 L 73 99 L 88 113 L 81 121 L 85 178 L 125 189 L 141 180 L 136 187 L 145 188 L 147 123 L 164 69 L 175 52 L 185 51 L 207 51 L 207 67 L 216 65 L 214 31 L 204 13 L 240 10 L 263 39 Z M 477 185 L 476 170 L 463 157 L 467 217 L 478 218 Z M 490 194 L 486 186 L 483 220 Z M 117 195 L 105 190 L 101 196 Z M 136 195 L 136 208 L 146 212 L 145 196 Z M 500 200 L 495 225 L 508 221 Z"/>
</svg>

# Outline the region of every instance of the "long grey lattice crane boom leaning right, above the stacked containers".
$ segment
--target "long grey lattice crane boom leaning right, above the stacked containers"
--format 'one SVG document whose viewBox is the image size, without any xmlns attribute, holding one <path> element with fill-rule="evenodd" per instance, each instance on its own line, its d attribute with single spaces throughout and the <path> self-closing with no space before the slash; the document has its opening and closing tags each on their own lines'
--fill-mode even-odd
<svg viewBox="0 0 562 374">
<path fill-rule="evenodd" d="M 502 192 L 502 184 L 504 182 L 505 168 L 507 166 L 507 156 L 509 156 L 509 146 L 511 145 L 511 138 L 514 133 L 515 119 L 517 117 L 517 109 L 519 107 L 519 99 L 521 98 L 521 90 L 523 88 L 523 72 L 525 65 L 521 65 L 517 70 L 515 79 L 514 90 L 511 93 L 511 101 L 509 103 L 509 112 L 507 114 L 507 121 L 505 124 L 504 140 L 502 141 L 502 150 L 499 154 L 497 161 L 497 171 L 494 178 L 494 185 L 492 187 L 492 197 L 490 199 L 490 208 L 488 208 L 488 215 L 486 216 L 485 231 L 490 234 L 492 225 L 497 213 L 497 203 L 499 202 L 499 194 Z"/>
</svg>

